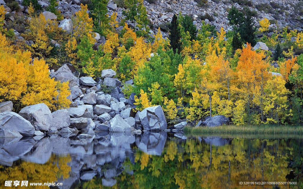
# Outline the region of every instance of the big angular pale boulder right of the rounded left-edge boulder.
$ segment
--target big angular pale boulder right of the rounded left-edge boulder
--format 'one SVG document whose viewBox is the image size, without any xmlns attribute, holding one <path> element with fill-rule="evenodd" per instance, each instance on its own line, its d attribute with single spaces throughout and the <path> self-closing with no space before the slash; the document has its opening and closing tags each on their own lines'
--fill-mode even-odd
<svg viewBox="0 0 303 189">
<path fill-rule="evenodd" d="M 45 103 L 26 106 L 20 110 L 19 115 L 31 122 L 36 130 L 48 131 L 53 122 L 52 112 Z"/>
</svg>

